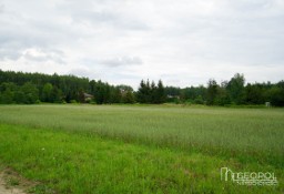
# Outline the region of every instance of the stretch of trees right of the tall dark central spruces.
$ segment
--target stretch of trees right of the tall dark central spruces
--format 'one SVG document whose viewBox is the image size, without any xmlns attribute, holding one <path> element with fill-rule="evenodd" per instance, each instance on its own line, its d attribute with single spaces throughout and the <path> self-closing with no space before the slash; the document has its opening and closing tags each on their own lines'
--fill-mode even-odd
<svg viewBox="0 0 284 194">
<path fill-rule="evenodd" d="M 207 85 L 185 89 L 168 86 L 165 93 L 172 102 L 206 105 L 263 105 L 284 106 L 284 81 L 277 83 L 247 83 L 243 74 L 236 73 L 230 81 L 217 83 L 210 79 Z"/>
</svg>

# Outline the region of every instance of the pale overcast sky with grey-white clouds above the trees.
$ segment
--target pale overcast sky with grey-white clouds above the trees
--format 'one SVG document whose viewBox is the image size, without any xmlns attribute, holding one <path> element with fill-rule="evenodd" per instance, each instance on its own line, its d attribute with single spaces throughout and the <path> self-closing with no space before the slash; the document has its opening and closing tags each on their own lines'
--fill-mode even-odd
<svg viewBox="0 0 284 194">
<path fill-rule="evenodd" d="M 138 88 L 284 79 L 284 0 L 0 0 L 0 69 Z"/>
</svg>

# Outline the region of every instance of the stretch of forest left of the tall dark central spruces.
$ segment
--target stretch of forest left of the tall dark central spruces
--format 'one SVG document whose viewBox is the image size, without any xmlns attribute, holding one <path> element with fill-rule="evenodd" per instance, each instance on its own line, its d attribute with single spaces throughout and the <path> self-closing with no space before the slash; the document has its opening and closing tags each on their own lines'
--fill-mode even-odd
<svg viewBox="0 0 284 194">
<path fill-rule="evenodd" d="M 85 99 L 84 94 L 93 95 Z M 129 85 L 74 75 L 49 75 L 0 70 L 0 103 L 134 103 L 134 91 Z"/>
</svg>

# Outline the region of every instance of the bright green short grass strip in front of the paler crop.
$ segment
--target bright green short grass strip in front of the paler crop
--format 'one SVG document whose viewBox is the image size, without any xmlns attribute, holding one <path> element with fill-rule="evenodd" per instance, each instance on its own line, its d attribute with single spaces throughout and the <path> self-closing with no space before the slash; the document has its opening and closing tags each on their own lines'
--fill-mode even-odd
<svg viewBox="0 0 284 194">
<path fill-rule="evenodd" d="M 84 133 L 0 124 L 0 162 L 40 182 L 36 193 L 282 193 L 283 170 Z M 240 186 L 220 167 L 273 171 L 278 186 Z"/>
</svg>

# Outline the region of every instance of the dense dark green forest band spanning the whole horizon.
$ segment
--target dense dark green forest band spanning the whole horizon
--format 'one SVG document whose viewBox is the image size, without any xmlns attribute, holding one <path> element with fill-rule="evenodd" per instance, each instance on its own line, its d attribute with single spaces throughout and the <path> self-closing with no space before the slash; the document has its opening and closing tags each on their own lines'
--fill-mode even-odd
<svg viewBox="0 0 284 194">
<path fill-rule="evenodd" d="M 193 103 L 207 105 L 264 104 L 284 106 L 284 81 L 278 83 L 247 83 L 236 73 L 230 81 L 217 83 L 210 79 L 207 85 L 164 86 L 161 80 L 142 80 L 138 91 L 129 85 L 74 75 L 49 75 L 0 70 L 0 103 Z"/>
</svg>

